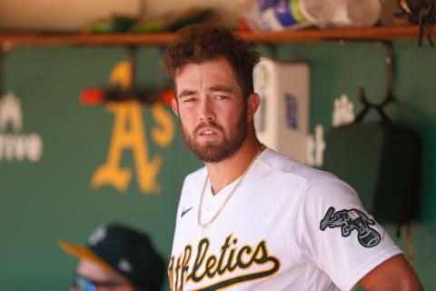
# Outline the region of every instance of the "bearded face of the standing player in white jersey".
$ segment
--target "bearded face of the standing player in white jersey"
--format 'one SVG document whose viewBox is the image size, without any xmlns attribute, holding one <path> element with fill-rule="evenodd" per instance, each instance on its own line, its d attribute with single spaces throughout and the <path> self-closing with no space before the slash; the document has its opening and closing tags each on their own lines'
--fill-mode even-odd
<svg viewBox="0 0 436 291">
<path fill-rule="evenodd" d="M 205 162 L 232 156 L 247 135 L 247 102 L 233 67 L 222 57 L 184 65 L 175 77 L 173 110 L 183 139 Z"/>
</svg>

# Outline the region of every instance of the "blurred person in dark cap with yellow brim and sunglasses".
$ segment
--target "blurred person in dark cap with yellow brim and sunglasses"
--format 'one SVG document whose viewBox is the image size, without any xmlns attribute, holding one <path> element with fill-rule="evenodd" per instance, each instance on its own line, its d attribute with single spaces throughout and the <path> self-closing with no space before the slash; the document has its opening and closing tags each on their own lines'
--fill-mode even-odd
<svg viewBox="0 0 436 291">
<path fill-rule="evenodd" d="M 165 265 L 150 237 L 121 225 L 99 226 L 86 246 L 59 241 L 79 258 L 73 287 L 77 291 L 159 291 Z"/>
</svg>

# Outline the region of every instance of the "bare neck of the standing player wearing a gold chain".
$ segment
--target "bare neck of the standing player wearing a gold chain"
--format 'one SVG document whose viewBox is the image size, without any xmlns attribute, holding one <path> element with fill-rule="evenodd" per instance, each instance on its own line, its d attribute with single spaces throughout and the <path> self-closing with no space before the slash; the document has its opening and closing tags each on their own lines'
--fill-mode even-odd
<svg viewBox="0 0 436 291">
<path fill-rule="evenodd" d="M 213 194 L 216 194 L 223 189 L 223 187 L 231 184 L 250 165 L 254 156 L 261 149 L 262 144 L 255 138 L 255 136 L 247 135 L 243 146 L 241 146 L 232 156 L 224 159 L 218 163 L 204 163 L 209 178 Z"/>
</svg>

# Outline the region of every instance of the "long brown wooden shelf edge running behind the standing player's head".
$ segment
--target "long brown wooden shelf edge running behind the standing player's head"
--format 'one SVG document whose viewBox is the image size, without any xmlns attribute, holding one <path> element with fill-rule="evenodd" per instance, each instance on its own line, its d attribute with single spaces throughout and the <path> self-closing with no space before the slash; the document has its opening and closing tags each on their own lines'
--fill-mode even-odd
<svg viewBox="0 0 436 291">
<path fill-rule="evenodd" d="M 276 33 L 238 33 L 243 38 L 258 43 L 278 44 L 319 40 L 409 40 L 418 39 L 419 26 L 380 26 L 368 28 L 310 29 Z M 436 25 L 431 25 L 436 35 Z M 174 34 L 1 34 L 4 48 L 17 45 L 167 45 Z"/>
</svg>

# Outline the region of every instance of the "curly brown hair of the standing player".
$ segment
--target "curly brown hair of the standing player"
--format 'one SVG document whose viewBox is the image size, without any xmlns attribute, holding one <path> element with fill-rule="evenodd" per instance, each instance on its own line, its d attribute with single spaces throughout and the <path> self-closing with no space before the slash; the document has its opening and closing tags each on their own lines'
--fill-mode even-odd
<svg viewBox="0 0 436 291">
<path fill-rule="evenodd" d="M 188 25 L 177 32 L 163 56 L 163 68 L 174 82 L 183 65 L 201 64 L 225 57 L 232 65 L 243 96 L 253 93 L 253 68 L 259 53 L 252 42 L 243 40 L 225 28 L 212 25 Z"/>
</svg>

